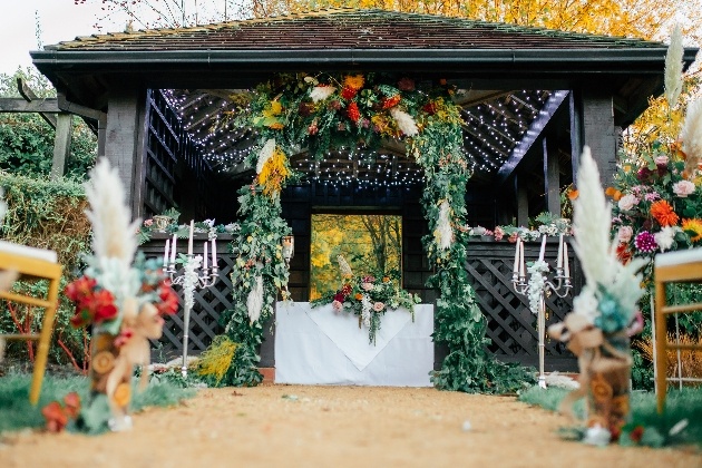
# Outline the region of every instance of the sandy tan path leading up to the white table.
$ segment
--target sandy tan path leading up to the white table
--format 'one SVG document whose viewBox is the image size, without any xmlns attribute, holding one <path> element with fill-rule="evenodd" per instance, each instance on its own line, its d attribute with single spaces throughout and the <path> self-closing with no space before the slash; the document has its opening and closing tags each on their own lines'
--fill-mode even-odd
<svg viewBox="0 0 702 468">
<path fill-rule="evenodd" d="M 563 441 L 555 430 L 568 420 L 558 415 L 435 389 L 206 389 L 134 423 L 99 437 L 6 437 L 0 467 L 702 467 L 702 454 L 681 449 Z"/>
</svg>

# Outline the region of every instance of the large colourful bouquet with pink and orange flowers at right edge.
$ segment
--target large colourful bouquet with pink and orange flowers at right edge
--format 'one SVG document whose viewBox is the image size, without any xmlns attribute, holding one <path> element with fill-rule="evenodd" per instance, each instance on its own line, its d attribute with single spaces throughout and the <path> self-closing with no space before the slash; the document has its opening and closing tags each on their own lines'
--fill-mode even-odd
<svg viewBox="0 0 702 468">
<path fill-rule="evenodd" d="M 615 186 L 606 191 L 615 203 L 613 235 L 622 261 L 701 245 L 702 99 L 690 104 L 683 117 L 677 104 L 682 55 L 682 36 L 676 29 L 666 55 L 665 99 L 666 129 L 680 137 L 670 138 L 653 126 L 649 139 L 633 155 L 623 156 Z"/>
</svg>

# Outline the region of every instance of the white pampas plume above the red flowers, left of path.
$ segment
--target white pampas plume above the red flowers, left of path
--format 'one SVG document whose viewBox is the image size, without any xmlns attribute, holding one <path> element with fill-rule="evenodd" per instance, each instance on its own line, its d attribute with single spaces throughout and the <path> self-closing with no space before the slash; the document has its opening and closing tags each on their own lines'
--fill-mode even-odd
<svg viewBox="0 0 702 468">
<path fill-rule="evenodd" d="M 125 299 L 138 293 L 142 284 L 138 272 L 131 269 L 140 221 L 129 222 L 125 189 L 117 169 L 106 158 L 90 172 L 86 197 L 90 204 L 86 216 L 92 226 L 94 252 L 88 259 L 91 271 L 86 273 L 110 291 L 121 306 Z"/>
</svg>

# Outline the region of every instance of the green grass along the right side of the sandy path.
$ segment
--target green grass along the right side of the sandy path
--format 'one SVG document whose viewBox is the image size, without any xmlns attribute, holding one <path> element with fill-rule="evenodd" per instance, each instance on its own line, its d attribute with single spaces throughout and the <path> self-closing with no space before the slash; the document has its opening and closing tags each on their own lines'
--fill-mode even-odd
<svg viewBox="0 0 702 468">
<path fill-rule="evenodd" d="M 546 390 L 533 387 L 519 396 L 519 401 L 556 411 L 560 400 L 568 390 L 548 388 Z M 694 443 L 702 447 L 702 389 L 688 388 L 669 390 L 663 415 L 656 412 L 656 400 L 653 392 L 634 391 L 631 398 L 632 422 L 650 428 L 654 427 L 666 437 L 667 445 Z M 575 404 L 575 413 L 583 417 L 585 404 L 583 400 Z M 688 427 L 674 437 L 667 433 L 681 420 L 688 420 Z"/>
</svg>

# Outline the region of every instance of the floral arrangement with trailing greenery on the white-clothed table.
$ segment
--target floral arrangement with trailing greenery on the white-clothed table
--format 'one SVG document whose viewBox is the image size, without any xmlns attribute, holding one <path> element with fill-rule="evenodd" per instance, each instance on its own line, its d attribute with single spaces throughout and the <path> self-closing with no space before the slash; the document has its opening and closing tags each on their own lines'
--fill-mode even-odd
<svg viewBox="0 0 702 468">
<path fill-rule="evenodd" d="M 421 302 L 419 295 L 400 289 L 398 280 L 388 275 L 354 276 L 342 255 L 339 255 L 338 261 L 343 285 L 312 301 L 312 306 L 331 303 L 337 312 L 358 315 L 359 328 L 368 328 L 368 339 L 371 344 L 376 344 L 380 319 L 389 309 L 404 308 L 410 311 L 412 322 L 415 321 L 415 304 Z"/>
</svg>

